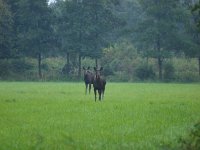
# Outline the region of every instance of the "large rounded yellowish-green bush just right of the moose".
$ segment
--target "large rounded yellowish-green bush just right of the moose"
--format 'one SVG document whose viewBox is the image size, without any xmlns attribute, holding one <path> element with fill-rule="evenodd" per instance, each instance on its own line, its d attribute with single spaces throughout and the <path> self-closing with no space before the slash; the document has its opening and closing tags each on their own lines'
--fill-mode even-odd
<svg viewBox="0 0 200 150">
<path fill-rule="evenodd" d="M 134 69 L 140 63 L 135 47 L 128 41 L 121 41 L 112 47 L 104 49 L 101 64 L 106 68 L 105 74 L 110 74 L 114 80 L 133 80 Z"/>
</svg>

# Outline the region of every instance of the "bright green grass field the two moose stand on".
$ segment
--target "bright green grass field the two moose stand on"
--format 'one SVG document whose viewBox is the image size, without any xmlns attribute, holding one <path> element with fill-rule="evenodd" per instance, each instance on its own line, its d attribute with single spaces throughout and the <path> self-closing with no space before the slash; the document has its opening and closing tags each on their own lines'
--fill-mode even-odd
<svg viewBox="0 0 200 150">
<path fill-rule="evenodd" d="M 163 149 L 200 121 L 199 84 L 0 82 L 0 150 Z"/>
</svg>

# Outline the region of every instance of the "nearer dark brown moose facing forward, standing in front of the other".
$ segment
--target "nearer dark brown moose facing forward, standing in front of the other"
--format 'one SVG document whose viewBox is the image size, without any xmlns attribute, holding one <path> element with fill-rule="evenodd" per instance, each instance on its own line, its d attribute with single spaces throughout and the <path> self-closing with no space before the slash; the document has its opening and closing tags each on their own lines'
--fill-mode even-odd
<svg viewBox="0 0 200 150">
<path fill-rule="evenodd" d="M 97 90 L 99 93 L 99 100 L 102 100 L 104 97 L 106 80 L 101 76 L 102 70 L 103 67 L 101 67 L 100 69 L 94 67 L 95 75 L 93 80 L 93 87 L 94 87 L 95 102 L 96 102 Z"/>
</svg>

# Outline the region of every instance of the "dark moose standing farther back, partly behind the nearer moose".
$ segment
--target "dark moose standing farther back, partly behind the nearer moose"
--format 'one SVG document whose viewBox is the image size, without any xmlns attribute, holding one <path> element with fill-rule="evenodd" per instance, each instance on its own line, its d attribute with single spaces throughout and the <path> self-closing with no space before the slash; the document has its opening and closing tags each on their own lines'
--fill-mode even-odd
<svg viewBox="0 0 200 150">
<path fill-rule="evenodd" d="M 85 94 L 87 94 L 88 91 L 88 85 L 89 85 L 89 94 L 91 91 L 91 85 L 93 84 L 93 80 L 94 80 L 94 74 L 93 72 L 90 71 L 90 67 L 88 67 L 87 69 L 85 67 L 83 67 L 84 70 L 84 81 L 85 81 Z"/>
</svg>

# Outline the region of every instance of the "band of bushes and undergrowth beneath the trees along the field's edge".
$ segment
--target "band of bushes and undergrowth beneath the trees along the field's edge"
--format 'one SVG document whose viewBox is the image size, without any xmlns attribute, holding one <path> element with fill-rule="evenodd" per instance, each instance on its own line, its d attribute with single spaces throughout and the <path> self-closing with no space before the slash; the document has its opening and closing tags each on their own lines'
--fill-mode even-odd
<svg viewBox="0 0 200 150">
<path fill-rule="evenodd" d="M 104 68 L 108 81 L 134 82 L 158 79 L 157 60 L 141 57 L 133 46 L 127 43 L 115 45 L 105 50 L 99 61 Z M 121 53 L 121 51 L 123 51 Z M 163 65 L 163 79 L 167 82 L 198 82 L 198 63 L 195 59 L 171 58 Z M 78 66 L 70 63 L 69 74 L 65 70 L 66 59 L 51 57 L 42 60 L 42 80 L 45 81 L 77 81 Z M 82 66 L 95 66 L 94 59 L 84 58 Z M 63 70 L 64 69 L 64 70 Z M 0 80 L 38 80 L 38 62 L 33 58 L 0 60 Z"/>
</svg>

